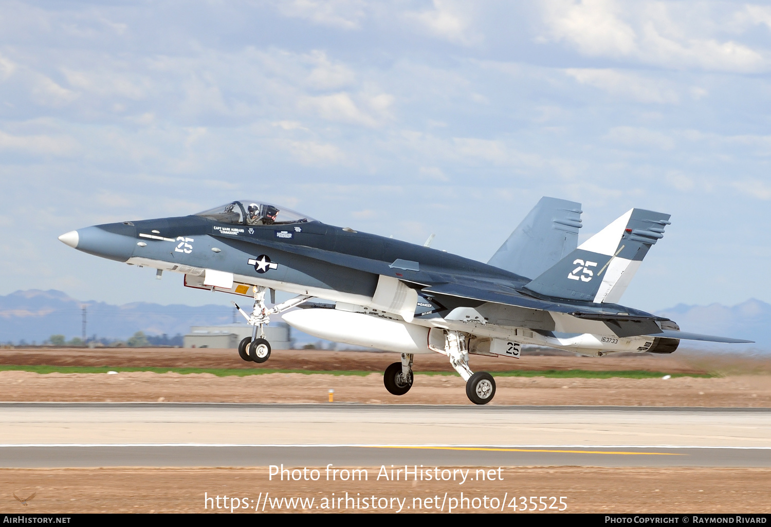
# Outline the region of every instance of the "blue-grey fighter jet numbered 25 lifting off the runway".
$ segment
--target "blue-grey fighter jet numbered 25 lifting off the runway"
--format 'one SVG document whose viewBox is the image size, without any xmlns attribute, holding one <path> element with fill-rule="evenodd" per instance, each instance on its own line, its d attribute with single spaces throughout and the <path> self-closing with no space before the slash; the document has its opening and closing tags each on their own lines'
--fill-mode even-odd
<svg viewBox="0 0 771 527">
<path fill-rule="evenodd" d="M 330 341 L 395 351 L 392 394 L 412 387 L 415 354 L 439 353 L 475 404 L 496 385 L 473 355 L 519 358 L 525 344 L 599 357 L 668 354 L 681 339 L 751 342 L 679 331 L 675 322 L 618 304 L 669 214 L 631 209 L 577 245 L 581 204 L 544 197 L 490 261 L 335 227 L 282 206 L 234 200 L 184 217 L 108 223 L 62 234 L 85 253 L 184 275 L 186 287 L 250 297 L 254 329 L 238 353 L 271 355 L 271 315 Z M 275 304 L 275 291 L 296 296 Z M 272 307 L 265 295 L 270 294 Z M 326 300 L 319 302 L 317 300 Z M 304 307 L 303 309 L 292 309 Z"/>
</svg>

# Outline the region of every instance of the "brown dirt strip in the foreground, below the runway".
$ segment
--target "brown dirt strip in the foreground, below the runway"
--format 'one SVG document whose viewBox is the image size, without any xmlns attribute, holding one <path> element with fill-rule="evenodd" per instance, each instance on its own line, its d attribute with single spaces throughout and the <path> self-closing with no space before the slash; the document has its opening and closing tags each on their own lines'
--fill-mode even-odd
<svg viewBox="0 0 771 527">
<path fill-rule="evenodd" d="M 456 506 L 453 512 L 523 512 L 522 497 L 526 498 L 527 509 L 547 509 L 549 505 L 561 509 L 559 499 L 564 496 L 566 512 L 771 512 L 771 469 L 768 468 L 507 467 L 500 472 L 503 481 L 468 481 L 463 485 L 452 481 L 386 482 L 382 478 L 376 481 L 380 467 L 367 468 L 367 482 L 328 482 L 324 468 L 319 468 L 318 482 L 280 482 L 275 478 L 269 482 L 266 467 L 0 469 L 0 510 L 28 514 L 230 514 L 231 505 L 247 505 L 247 509 L 234 512 L 254 513 L 255 505 L 259 504 L 259 512 L 294 512 L 303 508 L 299 505 L 288 507 L 287 502 L 283 502 L 279 509 L 271 507 L 271 500 L 296 497 L 314 498 L 310 507 L 313 512 L 397 512 L 399 505 L 392 498 L 402 502 L 402 512 L 436 512 L 443 502 L 443 512 L 448 512 L 449 505 Z M 448 467 L 439 467 L 440 471 L 444 468 Z M 472 473 L 474 469 L 471 468 Z M 36 494 L 28 506 L 22 506 L 13 497 L 14 492 L 20 498 L 26 498 L 32 492 Z M 348 498 L 369 498 L 369 502 L 374 496 L 375 502 L 385 509 L 364 509 L 363 501 L 359 502 L 360 509 L 354 509 L 354 501 L 349 501 L 348 509 L 345 509 L 346 492 Z M 460 501 L 461 492 L 463 498 L 470 498 L 467 502 Z M 214 498 L 206 503 L 207 509 L 204 509 L 204 493 L 206 497 Z M 269 494 L 268 502 L 263 511 L 266 493 Z M 227 502 L 223 499 L 215 501 L 224 496 L 227 496 Z M 530 496 L 534 496 L 534 505 L 530 505 Z M 545 505 L 539 504 L 541 496 Z M 512 501 L 513 497 L 516 500 Z M 556 499 L 553 501 L 552 497 Z M 241 501 L 231 502 L 231 498 Z M 324 509 L 325 498 L 327 504 L 331 498 L 342 498 L 340 509 L 337 502 L 333 511 Z M 426 502 L 426 498 L 431 501 Z M 244 499 L 246 502 L 242 501 Z M 217 509 L 217 505 L 225 503 L 225 508 Z M 461 503 L 464 505 L 462 510 L 459 509 Z M 493 504 L 497 505 L 497 510 L 491 507 Z M 419 505 L 423 509 L 416 510 Z M 516 510 L 513 509 L 515 505 Z M 544 512 L 558 511 L 547 509 Z"/>
</svg>

